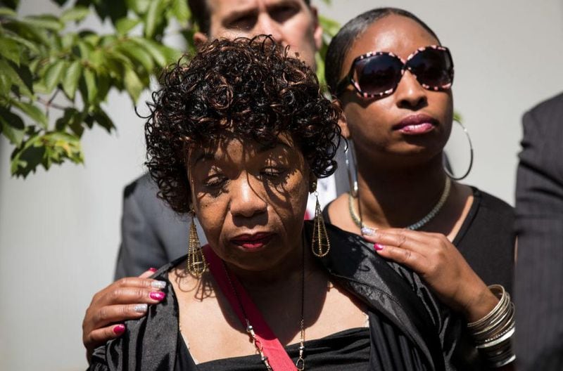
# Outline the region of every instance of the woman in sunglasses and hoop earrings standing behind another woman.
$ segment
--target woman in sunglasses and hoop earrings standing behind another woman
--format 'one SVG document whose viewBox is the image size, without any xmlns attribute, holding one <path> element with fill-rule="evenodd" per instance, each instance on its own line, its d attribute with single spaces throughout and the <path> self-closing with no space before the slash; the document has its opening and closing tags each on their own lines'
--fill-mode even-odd
<svg viewBox="0 0 563 371">
<path fill-rule="evenodd" d="M 379 8 L 344 25 L 329 46 L 326 77 L 346 116 L 341 129 L 355 148 L 358 186 L 351 181 L 350 194 L 324 216 L 419 273 L 464 315 L 487 363 L 502 366 L 512 351 L 491 349 L 503 341 L 510 348 L 513 306 L 493 284 L 512 287 L 512 208 L 443 168 L 453 76 L 448 48 L 407 11 Z M 507 322 L 495 327 L 498 318 Z"/>
</svg>

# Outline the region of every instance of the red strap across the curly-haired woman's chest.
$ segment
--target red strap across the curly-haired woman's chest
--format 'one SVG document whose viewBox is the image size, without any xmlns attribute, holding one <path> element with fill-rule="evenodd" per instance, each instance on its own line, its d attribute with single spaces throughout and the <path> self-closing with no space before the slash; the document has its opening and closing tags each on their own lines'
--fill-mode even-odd
<svg viewBox="0 0 563 371">
<path fill-rule="evenodd" d="M 203 247 L 203 254 L 209 263 L 209 271 L 213 275 L 213 278 L 215 278 L 221 292 L 229 301 L 232 310 L 236 313 L 237 317 L 239 317 L 243 327 L 246 328 L 246 320 L 241 311 L 241 306 L 244 307 L 244 311 L 248 316 L 248 321 L 250 321 L 254 328 L 256 339 L 258 339 L 258 341 L 262 344 L 262 351 L 265 356 L 267 356 L 272 369 L 275 371 L 297 370 L 293 360 L 289 358 L 284 347 L 281 346 L 281 343 L 277 339 L 276 335 L 274 335 L 274 332 L 272 332 L 270 326 L 268 326 L 262 317 L 262 313 L 260 313 L 258 308 L 255 306 L 251 297 L 248 296 L 248 293 L 244 289 L 243 285 L 241 285 L 241 282 L 239 282 L 234 275 L 227 273 L 220 257 L 213 252 L 213 249 L 211 249 L 209 245 L 205 245 Z M 227 274 L 229 274 L 229 276 L 227 276 Z M 241 305 L 239 305 L 239 300 L 236 298 L 236 294 L 231 288 L 229 278 L 232 285 L 236 288 L 236 292 L 239 294 Z"/>
</svg>

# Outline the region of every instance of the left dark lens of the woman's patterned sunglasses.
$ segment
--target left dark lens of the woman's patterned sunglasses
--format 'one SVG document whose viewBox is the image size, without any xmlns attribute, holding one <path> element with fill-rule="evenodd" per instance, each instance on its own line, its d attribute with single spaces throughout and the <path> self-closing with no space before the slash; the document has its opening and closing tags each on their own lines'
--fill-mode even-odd
<svg viewBox="0 0 563 371">
<path fill-rule="evenodd" d="M 383 95 L 393 91 L 400 80 L 401 62 L 398 58 L 381 55 L 358 60 L 354 80 L 362 93 Z"/>
</svg>

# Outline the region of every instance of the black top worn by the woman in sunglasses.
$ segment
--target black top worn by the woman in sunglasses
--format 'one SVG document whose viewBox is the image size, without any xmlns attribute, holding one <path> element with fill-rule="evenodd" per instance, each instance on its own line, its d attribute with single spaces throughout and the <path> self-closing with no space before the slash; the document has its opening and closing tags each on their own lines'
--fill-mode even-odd
<svg viewBox="0 0 563 371">
<path fill-rule="evenodd" d="M 514 283 L 514 209 L 499 198 L 472 187 L 473 204 L 453 245 L 486 285 L 512 292 Z M 322 211 L 330 223 L 329 205 Z"/>
</svg>

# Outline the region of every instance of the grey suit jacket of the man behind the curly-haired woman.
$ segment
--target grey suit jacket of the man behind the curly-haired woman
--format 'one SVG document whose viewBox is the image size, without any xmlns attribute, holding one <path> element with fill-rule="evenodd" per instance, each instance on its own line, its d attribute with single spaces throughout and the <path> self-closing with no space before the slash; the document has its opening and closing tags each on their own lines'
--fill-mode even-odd
<svg viewBox="0 0 563 371">
<path fill-rule="evenodd" d="M 148 174 L 125 187 L 116 280 L 159 268 L 187 253 L 191 219 L 172 211 L 157 193 L 158 186 Z M 203 246 L 205 235 L 197 226 Z"/>
</svg>

